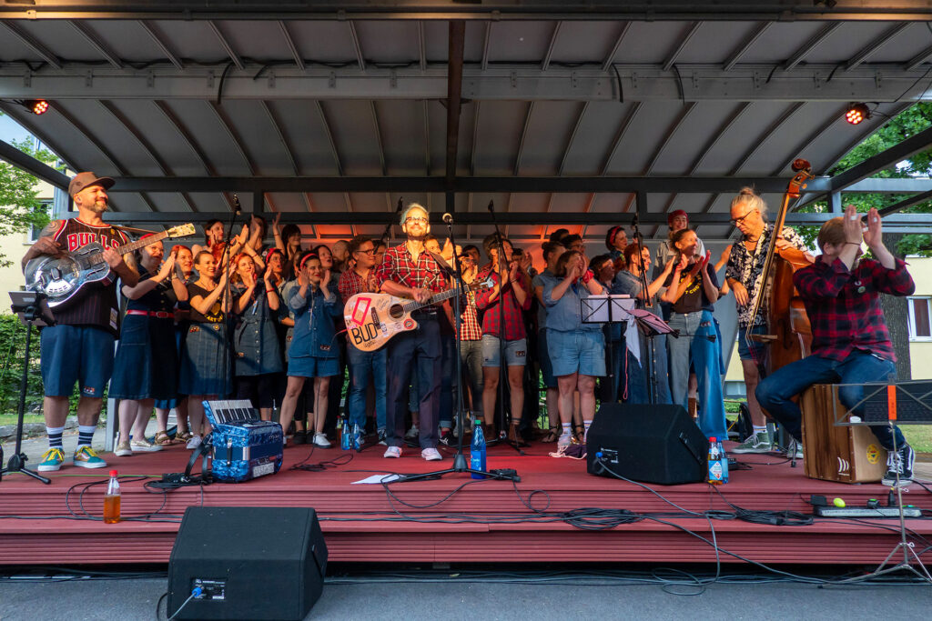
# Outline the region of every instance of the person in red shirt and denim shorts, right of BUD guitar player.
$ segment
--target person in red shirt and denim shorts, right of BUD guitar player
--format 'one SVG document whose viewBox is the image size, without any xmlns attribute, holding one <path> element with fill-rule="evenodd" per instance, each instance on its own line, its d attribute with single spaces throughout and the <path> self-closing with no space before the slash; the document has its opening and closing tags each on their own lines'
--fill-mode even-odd
<svg viewBox="0 0 932 621">
<path fill-rule="evenodd" d="M 480 281 L 490 280 L 491 289 L 476 295 L 475 304 L 482 316 L 482 372 L 485 378 L 482 411 L 486 425 L 495 420 L 495 398 L 499 388 L 500 354 L 508 366 L 508 386 L 511 393 L 512 422 L 509 439 L 518 442 L 516 427 L 524 411 L 524 368 L 528 356 L 528 335 L 522 310 L 531 303 L 530 278 L 513 259 L 512 242 L 495 234 L 483 240 L 489 263 L 479 271 Z M 504 338 L 504 347 L 499 339 Z M 503 404 L 502 404 L 503 407 Z M 491 429 L 489 429 L 491 432 Z"/>
</svg>

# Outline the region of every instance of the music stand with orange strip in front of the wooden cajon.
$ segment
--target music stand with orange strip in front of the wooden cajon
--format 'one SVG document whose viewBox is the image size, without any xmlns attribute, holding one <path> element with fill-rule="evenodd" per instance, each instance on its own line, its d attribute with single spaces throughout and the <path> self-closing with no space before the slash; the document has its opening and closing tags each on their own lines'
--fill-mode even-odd
<svg viewBox="0 0 932 621">
<path fill-rule="evenodd" d="M 838 412 L 838 399 L 834 399 L 832 405 L 832 414 L 834 416 L 834 425 L 854 426 L 854 425 L 882 425 L 886 423 L 893 431 L 894 422 L 905 425 L 928 425 L 932 423 L 932 406 L 928 403 L 932 392 L 929 391 L 928 382 L 891 382 L 870 383 L 870 384 L 842 384 L 843 386 L 858 387 L 864 389 L 864 397 L 861 398 L 851 409 L 844 412 Z M 911 387 L 917 387 L 918 390 L 911 390 Z M 836 389 L 838 389 L 836 388 Z M 918 394 L 918 396 L 917 396 Z M 860 414 L 854 413 L 855 409 L 860 410 Z M 907 415 L 902 419 L 899 418 L 899 412 L 903 411 Z M 897 435 L 890 434 L 893 438 L 893 452 L 898 451 Z M 860 582 L 868 578 L 873 578 L 884 574 L 893 574 L 899 570 L 906 570 L 918 576 L 921 580 L 932 584 L 932 575 L 929 574 L 925 564 L 919 558 L 913 549 L 912 542 L 906 541 L 906 517 L 903 515 L 903 492 L 899 485 L 899 470 L 897 474 L 897 507 L 899 516 L 899 541 L 896 546 L 886 555 L 886 559 L 881 562 L 870 574 L 860 575 L 854 578 L 843 580 L 840 584 Z M 886 567 L 887 563 L 897 554 L 899 550 L 903 552 L 903 560 L 896 565 Z M 910 559 L 915 560 L 919 569 L 912 566 Z"/>
</svg>

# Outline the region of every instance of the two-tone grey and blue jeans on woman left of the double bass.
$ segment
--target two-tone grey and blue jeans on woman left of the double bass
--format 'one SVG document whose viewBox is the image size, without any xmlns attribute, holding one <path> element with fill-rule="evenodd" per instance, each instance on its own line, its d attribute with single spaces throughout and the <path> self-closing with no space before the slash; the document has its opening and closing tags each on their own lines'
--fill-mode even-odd
<svg viewBox="0 0 932 621">
<path fill-rule="evenodd" d="M 721 343 L 709 311 L 670 317 L 679 338 L 668 337 L 670 396 L 674 405 L 688 407 L 690 361 L 699 381 L 699 428 L 706 438 L 728 439 L 725 402 L 721 393 Z"/>
</svg>

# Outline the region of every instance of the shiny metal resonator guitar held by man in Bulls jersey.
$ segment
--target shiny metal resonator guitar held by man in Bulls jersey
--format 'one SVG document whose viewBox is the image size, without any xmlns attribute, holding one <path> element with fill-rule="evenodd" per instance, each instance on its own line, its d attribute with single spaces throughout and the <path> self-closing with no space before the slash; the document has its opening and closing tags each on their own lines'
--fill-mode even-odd
<svg viewBox="0 0 932 621">
<path fill-rule="evenodd" d="M 194 235 L 194 224 L 173 226 L 167 231 L 124 244 L 114 250 L 126 254 L 165 238 Z M 26 263 L 26 290 L 45 293 L 51 308 L 80 298 L 81 288 L 110 276 L 110 265 L 103 260 L 103 246 L 87 244 L 74 252 L 36 257 Z"/>
</svg>

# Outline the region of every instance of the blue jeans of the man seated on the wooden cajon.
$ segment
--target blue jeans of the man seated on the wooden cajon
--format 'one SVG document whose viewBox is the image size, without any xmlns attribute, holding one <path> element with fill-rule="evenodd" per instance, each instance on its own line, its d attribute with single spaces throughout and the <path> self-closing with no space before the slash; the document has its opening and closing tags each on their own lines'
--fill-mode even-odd
<svg viewBox="0 0 932 621">
<path fill-rule="evenodd" d="M 790 398 L 814 384 L 884 382 L 896 371 L 897 367 L 893 362 L 858 349 L 848 354 L 841 362 L 808 356 L 765 377 L 754 394 L 764 410 L 785 426 L 793 438 L 802 441 L 802 411 Z M 843 386 L 838 390 L 838 399 L 845 408 L 853 410 L 856 414 L 860 412 L 854 406 L 863 396 L 864 389 L 854 385 Z M 897 440 L 897 447 L 906 444 L 906 439 L 897 426 L 891 431 L 889 425 L 870 425 L 870 431 L 888 451 L 893 450 L 894 439 Z"/>
</svg>

